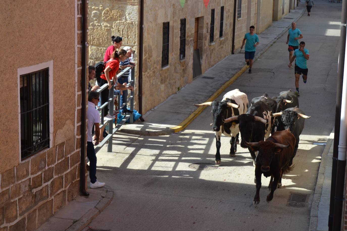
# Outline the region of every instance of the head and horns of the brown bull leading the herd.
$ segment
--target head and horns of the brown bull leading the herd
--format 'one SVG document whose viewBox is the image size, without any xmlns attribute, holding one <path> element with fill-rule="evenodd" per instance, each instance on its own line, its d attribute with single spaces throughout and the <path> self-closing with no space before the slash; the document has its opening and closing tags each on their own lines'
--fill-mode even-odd
<svg viewBox="0 0 347 231">
<path fill-rule="evenodd" d="M 274 155 L 282 152 L 284 148 L 288 148 L 288 145 L 274 143 L 271 141 L 259 141 L 254 143 L 247 143 L 253 151 L 258 151 L 257 162 L 260 163 L 260 169 L 264 172 L 270 171 L 270 165 Z"/>
</svg>

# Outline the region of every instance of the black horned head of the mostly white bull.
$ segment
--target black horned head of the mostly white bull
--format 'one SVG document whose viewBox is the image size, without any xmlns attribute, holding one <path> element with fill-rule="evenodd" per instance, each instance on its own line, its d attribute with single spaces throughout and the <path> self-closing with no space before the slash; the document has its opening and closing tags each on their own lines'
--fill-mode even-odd
<svg viewBox="0 0 347 231">
<path fill-rule="evenodd" d="M 194 104 L 194 105 L 197 107 L 212 106 L 211 114 L 213 116 L 213 123 L 211 124 L 211 127 L 212 127 L 212 131 L 214 132 L 219 132 L 220 126 L 222 126 L 223 124 L 222 117 L 224 114 L 226 114 L 228 107 L 233 107 L 233 108 L 240 107 L 237 104 L 229 103 L 226 101 L 220 102 L 217 100 L 214 100 L 212 102 L 205 102 L 202 104 Z"/>
</svg>

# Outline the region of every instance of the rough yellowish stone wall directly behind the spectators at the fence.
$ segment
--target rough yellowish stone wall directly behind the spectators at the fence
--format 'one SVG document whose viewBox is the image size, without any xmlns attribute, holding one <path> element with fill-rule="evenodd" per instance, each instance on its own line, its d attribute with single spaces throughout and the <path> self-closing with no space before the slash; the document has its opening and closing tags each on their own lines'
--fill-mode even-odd
<svg viewBox="0 0 347 231">
<path fill-rule="evenodd" d="M 123 38 L 124 46 L 130 46 L 138 54 L 138 0 L 90 0 L 88 6 L 89 65 L 104 60 L 104 54 L 112 45 L 111 36 Z M 121 47 L 121 48 L 122 48 Z M 137 68 L 135 68 L 135 108 L 137 108 Z"/>
</svg>

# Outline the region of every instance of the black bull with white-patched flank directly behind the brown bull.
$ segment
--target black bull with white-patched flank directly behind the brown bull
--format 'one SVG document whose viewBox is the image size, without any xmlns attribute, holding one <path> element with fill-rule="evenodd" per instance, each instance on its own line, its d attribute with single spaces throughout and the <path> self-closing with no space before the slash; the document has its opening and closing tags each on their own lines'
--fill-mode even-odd
<svg viewBox="0 0 347 231">
<path fill-rule="evenodd" d="M 268 139 L 271 134 L 271 128 L 274 123 L 274 118 L 271 116 L 276 110 L 276 104 L 273 104 L 272 99 L 268 103 L 265 103 L 267 99 L 261 99 L 250 106 L 246 114 L 239 116 L 232 116 L 224 120 L 224 122 L 235 122 L 239 124 L 241 133 L 241 147 L 248 148 L 249 153 L 253 159 L 255 159 L 255 152 L 249 148 L 245 141 L 259 142 Z M 275 102 L 276 103 L 276 102 Z"/>
</svg>

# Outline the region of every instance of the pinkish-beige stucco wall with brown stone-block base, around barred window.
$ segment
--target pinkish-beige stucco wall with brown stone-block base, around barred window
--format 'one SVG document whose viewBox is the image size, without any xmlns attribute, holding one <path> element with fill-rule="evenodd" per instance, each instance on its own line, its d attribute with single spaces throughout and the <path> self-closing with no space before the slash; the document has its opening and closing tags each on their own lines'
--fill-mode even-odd
<svg viewBox="0 0 347 231">
<path fill-rule="evenodd" d="M 0 61 L 6 66 L 0 74 L 6 98 L 0 103 L 6 124 L 0 129 L 0 229 L 34 230 L 78 195 L 81 132 L 75 130 L 81 130 L 81 109 L 76 109 L 81 107 L 81 45 L 75 41 L 81 44 L 76 34 L 82 30 L 81 5 L 77 0 L 2 0 L 0 8 L 0 21 L 6 22 L 0 24 Z M 49 61 L 52 145 L 20 160 L 17 70 Z"/>
</svg>

